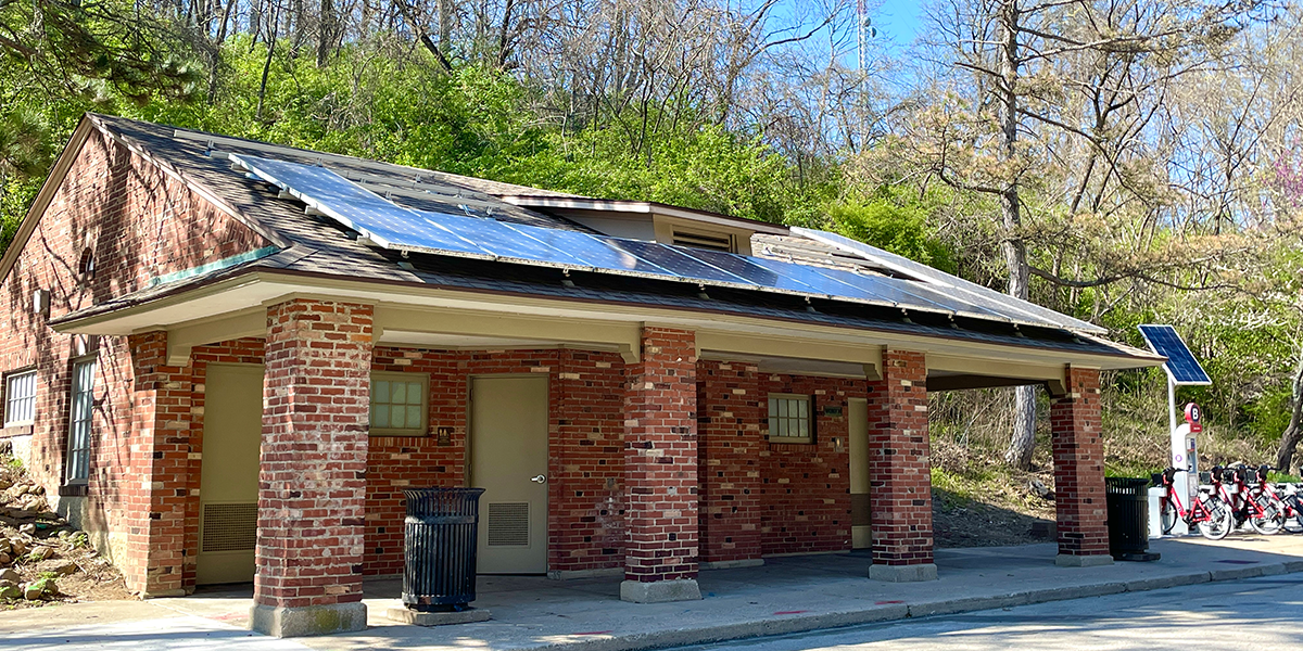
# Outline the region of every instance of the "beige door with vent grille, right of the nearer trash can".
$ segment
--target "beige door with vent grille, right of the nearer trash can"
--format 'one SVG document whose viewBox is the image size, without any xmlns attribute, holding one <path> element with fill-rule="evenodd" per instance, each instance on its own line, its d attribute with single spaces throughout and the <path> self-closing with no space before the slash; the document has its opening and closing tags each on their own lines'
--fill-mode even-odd
<svg viewBox="0 0 1303 651">
<path fill-rule="evenodd" d="M 470 380 L 481 574 L 547 572 L 547 378 Z"/>
</svg>

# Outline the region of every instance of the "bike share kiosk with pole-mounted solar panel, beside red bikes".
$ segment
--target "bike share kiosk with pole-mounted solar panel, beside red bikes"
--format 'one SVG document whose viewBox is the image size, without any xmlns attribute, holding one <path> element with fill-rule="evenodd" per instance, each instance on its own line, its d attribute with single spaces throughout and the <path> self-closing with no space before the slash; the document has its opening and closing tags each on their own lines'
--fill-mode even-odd
<svg viewBox="0 0 1303 651">
<path fill-rule="evenodd" d="M 1195 359 L 1194 353 L 1182 341 L 1181 335 L 1171 326 L 1140 326 L 1140 336 L 1149 344 L 1149 349 L 1167 358 L 1162 363 L 1162 370 L 1167 372 L 1167 415 L 1171 436 L 1171 467 L 1177 469 L 1173 484 L 1179 495 L 1184 495 L 1192 501 L 1199 492 L 1199 434 L 1203 432 L 1200 419 L 1203 413 L 1199 405 L 1190 402 L 1184 409 L 1184 423 L 1177 424 L 1177 387 L 1208 387 L 1212 378 L 1204 367 Z M 1165 495 L 1165 488 L 1156 486 L 1149 488 L 1149 538 L 1162 536 L 1162 523 L 1160 521 L 1160 501 Z M 1187 501 L 1187 504 L 1190 503 Z M 1186 523 L 1177 518 L 1170 535 L 1186 535 L 1190 530 Z"/>
</svg>

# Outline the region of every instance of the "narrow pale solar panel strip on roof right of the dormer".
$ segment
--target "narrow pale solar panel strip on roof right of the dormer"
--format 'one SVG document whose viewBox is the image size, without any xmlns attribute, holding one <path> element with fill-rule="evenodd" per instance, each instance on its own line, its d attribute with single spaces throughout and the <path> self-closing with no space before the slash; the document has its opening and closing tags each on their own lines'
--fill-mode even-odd
<svg viewBox="0 0 1303 651">
<path fill-rule="evenodd" d="M 976 283 L 968 283 L 964 279 L 951 276 L 946 272 L 928 267 L 926 264 L 911 260 L 903 255 L 883 251 L 882 249 L 869 246 L 864 242 L 857 242 L 837 233 L 799 227 L 792 227 L 792 233 L 835 246 L 843 251 L 853 253 L 865 260 L 874 262 L 887 270 L 896 271 L 906 276 L 928 280 L 939 285 L 938 289 L 943 289 L 946 293 L 952 294 L 954 298 L 960 302 L 972 303 L 986 311 L 1001 314 L 1005 319 L 1015 323 L 1027 323 L 1050 328 L 1067 328 L 1080 332 L 1108 332 L 1105 328 L 1093 323 L 1074 319 L 1065 314 L 1055 312 L 1054 310 L 1041 307 L 1031 301 L 1014 298 L 1009 294 L 1002 294 Z"/>
</svg>

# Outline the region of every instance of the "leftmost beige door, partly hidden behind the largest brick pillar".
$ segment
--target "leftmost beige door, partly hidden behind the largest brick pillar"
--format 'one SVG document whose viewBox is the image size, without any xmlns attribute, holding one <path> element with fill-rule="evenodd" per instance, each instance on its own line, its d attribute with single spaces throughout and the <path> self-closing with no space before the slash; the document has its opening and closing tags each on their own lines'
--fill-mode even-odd
<svg viewBox="0 0 1303 651">
<path fill-rule="evenodd" d="M 199 475 L 199 585 L 253 581 L 262 366 L 210 365 Z"/>
</svg>

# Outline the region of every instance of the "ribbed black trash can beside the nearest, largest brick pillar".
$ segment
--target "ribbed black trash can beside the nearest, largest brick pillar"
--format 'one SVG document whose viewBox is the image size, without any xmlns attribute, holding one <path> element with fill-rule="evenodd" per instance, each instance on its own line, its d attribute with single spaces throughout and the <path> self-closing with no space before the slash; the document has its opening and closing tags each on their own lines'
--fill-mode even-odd
<svg viewBox="0 0 1303 651">
<path fill-rule="evenodd" d="M 412 488 L 404 527 L 403 604 L 455 612 L 476 600 L 476 529 L 483 488 Z"/>
</svg>

